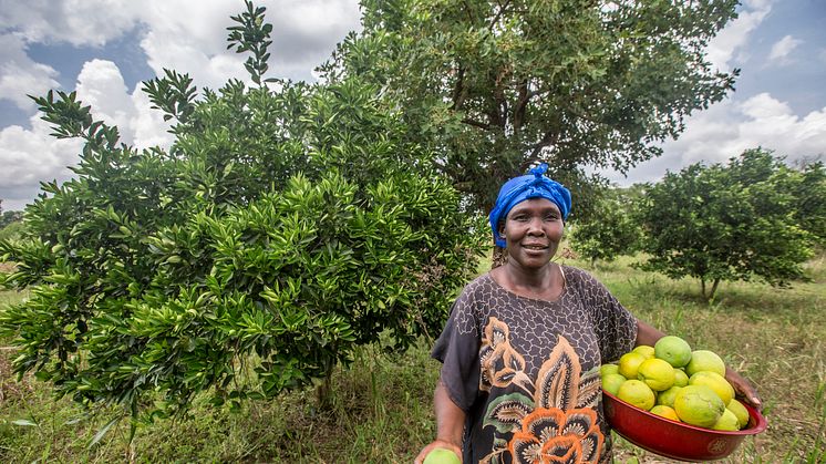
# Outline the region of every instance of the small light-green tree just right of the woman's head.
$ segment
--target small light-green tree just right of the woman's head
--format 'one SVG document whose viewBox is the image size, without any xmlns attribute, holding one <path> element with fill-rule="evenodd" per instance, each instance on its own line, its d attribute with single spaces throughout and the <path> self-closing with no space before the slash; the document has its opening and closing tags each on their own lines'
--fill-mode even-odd
<svg viewBox="0 0 826 464">
<path fill-rule="evenodd" d="M 597 202 L 590 220 L 579 220 L 570 235 L 571 248 L 589 258 L 612 261 L 619 256 L 638 251 L 642 228 L 634 217 L 634 198 L 631 192 L 620 188 L 606 190 Z"/>
</svg>

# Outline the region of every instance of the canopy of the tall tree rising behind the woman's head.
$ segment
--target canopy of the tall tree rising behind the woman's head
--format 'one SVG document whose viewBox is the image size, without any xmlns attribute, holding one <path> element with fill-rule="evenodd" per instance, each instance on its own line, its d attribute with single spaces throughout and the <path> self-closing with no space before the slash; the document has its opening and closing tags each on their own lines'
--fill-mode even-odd
<svg viewBox="0 0 826 464">
<path fill-rule="evenodd" d="M 723 99 L 709 41 L 736 0 L 363 0 L 363 30 L 320 68 L 395 95 L 438 167 L 488 210 L 546 162 L 588 210 L 586 168 L 658 156 L 691 112 Z"/>
</svg>

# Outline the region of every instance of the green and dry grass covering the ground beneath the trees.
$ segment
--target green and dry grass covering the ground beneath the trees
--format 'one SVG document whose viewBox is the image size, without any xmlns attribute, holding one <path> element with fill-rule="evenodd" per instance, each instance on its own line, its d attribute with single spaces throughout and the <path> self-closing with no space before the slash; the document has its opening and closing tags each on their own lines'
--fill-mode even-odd
<svg viewBox="0 0 826 464">
<path fill-rule="evenodd" d="M 721 353 L 754 382 L 770 426 L 725 462 L 824 462 L 826 259 L 808 264 L 810 282 L 791 289 L 723 283 L 712 305 L 699 297 L 699 282 L 641 272 L 632 261 L 588 269 L 587 262 L 566 260 L 595 274 L 639 318 Z M 24 297 L 0 293 L 0 305 Z M 73 403 L 55 401 L 47 384 L 30 377 L 11 375 L 14 351 L 2 348 L 0 462 L 411 462 L 435 433 L 438 363 L 429 351 L 424 340 L 399 355 L 364 347 L 349 370 L 335 371 L 331 405 L 323 410 L 312 389 L 248 402 L 235 413 L 209 406 L 204 396 L 188 417 L 138 429 L 131 447 L 126 423 L 90 447 L 112 412 L 75 422 L 80 411 Z M 616 458 L 669 462 L 622 441 Z"/>
</svg>

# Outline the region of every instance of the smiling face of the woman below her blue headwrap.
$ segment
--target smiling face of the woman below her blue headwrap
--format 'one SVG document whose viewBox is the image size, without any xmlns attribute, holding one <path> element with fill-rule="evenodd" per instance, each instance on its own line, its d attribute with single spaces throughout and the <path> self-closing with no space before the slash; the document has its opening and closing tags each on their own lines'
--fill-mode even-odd
<svg viewBox="0 0 826 464">
<path fill-rule="evenodd" d="M 503 235 L 514 265 L 537 269 L 550 261 L 562 239 L 559 208 L 547 198 L 526 199 L 508 212 Z"/>
</svg>

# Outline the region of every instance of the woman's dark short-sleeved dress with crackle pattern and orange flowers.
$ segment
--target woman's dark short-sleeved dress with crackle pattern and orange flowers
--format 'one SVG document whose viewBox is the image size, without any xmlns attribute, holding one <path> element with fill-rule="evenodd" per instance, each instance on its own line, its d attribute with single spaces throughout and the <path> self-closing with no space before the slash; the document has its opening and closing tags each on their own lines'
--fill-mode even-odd
<svg viewBox="0 0 826 464">
<path fill-rule="evenodd" d="M 466 414 L 465 463 L 610 462 L 599 367 L 633 347 L 637 322 L 593 277 L 562 272 L 556 301 L 486 274 L 454 303 L 432 355 Z"/>
</svg>

